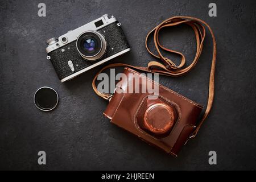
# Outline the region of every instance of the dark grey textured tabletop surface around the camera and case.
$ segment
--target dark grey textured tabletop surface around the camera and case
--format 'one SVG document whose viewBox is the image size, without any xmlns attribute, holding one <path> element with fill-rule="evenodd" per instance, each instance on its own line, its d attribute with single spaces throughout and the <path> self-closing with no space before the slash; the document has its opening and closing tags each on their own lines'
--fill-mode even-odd
<svg viewBox="0 0 256 182">
<path fill-rule="evenodd" d="M 1 1 L 0 169 L 256 169 L 255 163 L 255 1 Z M 217 17 L 208 16 L 210 2 Z M 154 60 L 144 47 L 147 32 L 174 15 L 205 20 L 217 39 L 216 95 L 199 135 L 174 158 L 112 125 L 102 115 L 108 102 L 96 96 L 91 82 L 100 67 L 61 84 L 46 59 L 45 40 L 60 36 L 103 14 L 121 23 L 132 51 L 114 59 L 133 65 Z M 162 32 L 164 45 L 195 55 L 191 28 Z M 160 82 L 203 105 L 208 94 L 212 46 L 209 34 L 195 69 Z M 172 58 L 176 58 L 171 56 Z M 179 61 L 179 59 L 175 59 Z M 41 86 L 60 96 L 49 113 L 36 109 Z M 47 165 L 38 165 L 38 151 Z M 208 152 L 217 152 L 217 165 Z"/>
</svg>

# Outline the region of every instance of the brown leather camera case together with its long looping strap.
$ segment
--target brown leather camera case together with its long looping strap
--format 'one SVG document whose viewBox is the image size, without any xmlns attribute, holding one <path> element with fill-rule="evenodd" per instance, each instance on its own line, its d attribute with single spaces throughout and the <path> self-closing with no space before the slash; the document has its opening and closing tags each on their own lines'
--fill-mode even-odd
<svg viewBox="0 0 256 182">
<path fill-rule="evenodd" d="M 195 58 L 192 63 L 185 68 L 185 56 L 181 52 L 164 47 L 159 42 L 159 31 L 162 28 L 177 26 L 179 24 L 187 24 L 188 26 L 192 27 L 196 36 L 197 46 Z M 171 89 L 149 80 L 149 78 L 140 75 L 131 68 L 143 72 L 158 73 L 159 75 L 172 77 L 185 75 L 195 67 L 197 61 L 199 60 L 205 39 L 205 26 L 212 35 L 213 56 L 212 65 L 210 68 L 207 107 L 204 111 L 203 117 L 198 119 L 199 114 L 203 109 L 201 105 L 196 104 L 184 96 L 181 96 Z M 151 34 L 154 34 L 154 44 L 157 54 L 153 53 L 147 45 L 148 37 Z M 207 118 L 209 115 L 210 109 L 212 108 L 214 98 L 214 71 L 217 54 L 216 40 L 212 29 L 203 20 L 189 16 L 174 16 L 164 20 L 162 23 L 148 32 L 145 46 L 147 51 L 152 56 L 159 59 L 162 63 L 159 61 L 150 61 L 147 67 L 136 67 L 123 63 L 109 64 L 97 73 L 93 79 L 92 86 L 98 96 L 104 98 L 105 100 L 110 100 L 104 115 L 111 119 L 112 123 L 130 131 L 146 142 L 177 156 L 180 148 L 187 142 L 187 140 L 194 138 L 197 135 L 201 125 L 205 121 L 205 118 Z M 164 57 L 160 49 L 179 55 L 181 57 L 180 64 L 176 65 L 172 60 L 168 59 L 168 57 Z M 114 94 L 99 92 L 95 84 L 98 74 L 107 68 L 113 67 L 126 67 L 124 73 L 128 77 L 130 73 L 133 75 L 133 78 L 118 82 Z M 139 78 L 139 83 L 134 81 L 135 78 Z M 145 82 L 142 81 L 143 79 L 150 82 L 150 84 L 152 84 L 151 86 L 159 86 L 158 98 L 156 100 L 150 99 L 151 92 L 127 92 L 127 89 L 129 89 L 129 86 L 133 84 L 133 82 L 135 82 L 133 87 L 137 87 L 139 90 L 141 90 L 145 84 Z M 199 122 L 196 122 L 197 119 Z"/>
</svg>

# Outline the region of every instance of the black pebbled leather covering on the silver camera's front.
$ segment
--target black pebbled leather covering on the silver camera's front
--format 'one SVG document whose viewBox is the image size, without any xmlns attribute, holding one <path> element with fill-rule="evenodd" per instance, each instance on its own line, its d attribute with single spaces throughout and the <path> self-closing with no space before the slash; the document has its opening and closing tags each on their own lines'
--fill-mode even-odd
<svg viewBox="0 0 256 182">
<path fill-rule="evenodd" d="M 48 53 L 51 56 L 51 63 L 55 69 L 59 79 L 63 79 L 73 73 L 80 71 L 90 65 L 96 64 L 98 61 L 104 60 L 109 56 L 114 55 L 120 51 L 130 48 L 129 43 L 126 40 L 125 34 L 122 30 L 122 26 L 117 26 L 118 21 L 109 24 L 103 28 L 97 30 L 104 35 L 108 44 L 106 47 L 106 53 L 101 59 L 97 61 L 86 61 L 82 59 L 79 52 L 76 49 L 76 40 L 54 51 Z M 79 36 L 79 35 L 77 35 Z M 68 49 L 69 48 L 69 49 Z M 113 49 L 112 49 L 113 48 Z M 61 49 L 65 49 L 64 52 Z M 68 61 L 72 60 L 75 72 L 72 72 L 68 66 Z"/>
</svg>

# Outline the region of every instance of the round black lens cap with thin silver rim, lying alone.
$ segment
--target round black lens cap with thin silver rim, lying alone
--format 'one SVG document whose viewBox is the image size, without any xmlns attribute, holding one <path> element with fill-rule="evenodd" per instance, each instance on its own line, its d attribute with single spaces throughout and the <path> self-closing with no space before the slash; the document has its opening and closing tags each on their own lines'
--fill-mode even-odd
<svg viewBox="0 0 256 182">
<path fill-rule="evenodd" d="M 36 90 L 34 95 L 34 102 L 38 109 L 43 111 L 50 111 L 54 109 L 59 101 L 59 96 L 57 92 L 49 88 L 48 86 L 43 86 Z"/>
</svg>

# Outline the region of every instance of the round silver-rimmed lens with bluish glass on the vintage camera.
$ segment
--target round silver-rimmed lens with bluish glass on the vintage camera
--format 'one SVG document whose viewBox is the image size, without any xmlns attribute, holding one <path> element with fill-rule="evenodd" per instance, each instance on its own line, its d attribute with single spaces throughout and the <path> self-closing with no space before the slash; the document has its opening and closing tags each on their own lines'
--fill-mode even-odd
<svg viewBox="0 0 256 182">
<path fill-rule="evenodd" d="M 77 51 L 85 59 L 94 61 L 100 59 L 106 52 L 106 40 L 100 32 L 83 32 L 76 42 Z"/>
</svg>

